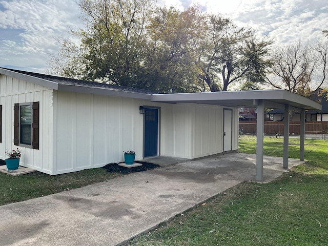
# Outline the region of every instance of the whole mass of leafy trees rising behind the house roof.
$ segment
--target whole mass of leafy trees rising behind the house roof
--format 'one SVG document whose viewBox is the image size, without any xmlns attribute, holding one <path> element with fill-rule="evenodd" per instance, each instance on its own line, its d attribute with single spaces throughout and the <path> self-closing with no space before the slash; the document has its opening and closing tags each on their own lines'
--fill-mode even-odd
<svg viewBox="0 0 328 246">
<path fill-rule="evenodd" d="M 272 40 L 199 8 L 159 8 L 153 0 L 80 0 L 85 29 L 58 38 L 53 72 L 160 92 L 226 91 L 264 81 Z M 78 42 L 73 42 L 73 40 Z"/>
</svg>

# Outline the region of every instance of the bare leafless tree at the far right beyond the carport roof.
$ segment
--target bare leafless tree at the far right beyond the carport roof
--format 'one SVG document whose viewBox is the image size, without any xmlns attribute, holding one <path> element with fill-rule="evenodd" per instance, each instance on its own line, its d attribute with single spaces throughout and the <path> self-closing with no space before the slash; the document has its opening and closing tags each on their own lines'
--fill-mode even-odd
<svg viewBox="0 0 328 246">
<path fill-rule="evenodd" d="M 279 46 L 273 52 L 273 66 L 266 81 L 274 88 L 310 96 L 326 81 L 327 54 L 327 42 L 304 45 L 299 41 Z"/>
</svg>

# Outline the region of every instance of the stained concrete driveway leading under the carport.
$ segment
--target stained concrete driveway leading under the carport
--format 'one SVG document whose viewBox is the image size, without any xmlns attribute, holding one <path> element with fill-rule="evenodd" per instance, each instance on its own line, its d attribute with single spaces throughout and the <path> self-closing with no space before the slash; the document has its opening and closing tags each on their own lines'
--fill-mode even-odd
<svg viewBox="0 0 328 246">
<path fill-rule="evenodd" d="M 117 245 L 237 185 L 256 180 L 255 155 L 231 153 L 133 173 L 0 207 L 0 245 Z M 303 161 L 290 159 L 290 166 Z M 264 182 L 282 172 L 264 157 Z"/>
</svg>

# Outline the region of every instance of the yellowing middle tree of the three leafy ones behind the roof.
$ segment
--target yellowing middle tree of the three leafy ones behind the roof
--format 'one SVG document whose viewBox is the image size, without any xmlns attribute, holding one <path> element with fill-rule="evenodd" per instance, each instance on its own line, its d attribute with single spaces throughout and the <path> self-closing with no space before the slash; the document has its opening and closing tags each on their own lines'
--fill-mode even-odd
<svg viewBox="0 0 328 246">
<path fill-rule="evenodd" d="M 160 91 L 197 90 L 194 42 L 203 37 L 205 16 L 196 7 L 157 8 L 148 26 L 149 83 Z"/>
</svg>

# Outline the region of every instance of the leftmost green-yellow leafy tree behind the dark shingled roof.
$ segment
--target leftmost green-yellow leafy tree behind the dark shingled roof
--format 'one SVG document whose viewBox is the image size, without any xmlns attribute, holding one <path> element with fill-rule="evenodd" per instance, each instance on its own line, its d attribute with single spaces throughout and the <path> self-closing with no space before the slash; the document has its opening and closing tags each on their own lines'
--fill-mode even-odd
<svg viewBox="0 0 328 246">
<path fill-rule="evenodd" d="M 146 24 L 152 14 L 152 0 L 80 0 L 85 30 L 73 32 L 79 44 L 59 39 L 61 49 L 50 59 L 64 57 L 66 69 L 60 75 L 140 88 L 145 84 Z"/>
</svg>

